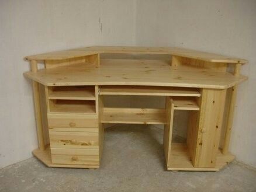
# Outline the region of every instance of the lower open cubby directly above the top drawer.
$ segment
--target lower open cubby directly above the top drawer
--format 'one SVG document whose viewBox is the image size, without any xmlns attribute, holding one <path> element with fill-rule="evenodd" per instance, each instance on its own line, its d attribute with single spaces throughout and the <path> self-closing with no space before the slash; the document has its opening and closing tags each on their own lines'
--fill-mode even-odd
<svg viewBox="0 0 256 192">
<path fill-rule="evenodd" d="M 51 113 L 96 113 L 92 100 L 50 100 Z"/>
</svg>

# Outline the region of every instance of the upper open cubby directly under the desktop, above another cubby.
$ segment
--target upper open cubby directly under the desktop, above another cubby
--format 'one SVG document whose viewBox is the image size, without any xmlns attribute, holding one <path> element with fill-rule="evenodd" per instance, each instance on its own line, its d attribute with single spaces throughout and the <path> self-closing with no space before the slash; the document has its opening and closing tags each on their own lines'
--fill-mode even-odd
<svg viewBox="0 0 256 192">
<path fill-rule="evenodd" d="M 49 99 L 95 100 L 95 87 L 55 86 L 49 88 Z"/>
</svg>

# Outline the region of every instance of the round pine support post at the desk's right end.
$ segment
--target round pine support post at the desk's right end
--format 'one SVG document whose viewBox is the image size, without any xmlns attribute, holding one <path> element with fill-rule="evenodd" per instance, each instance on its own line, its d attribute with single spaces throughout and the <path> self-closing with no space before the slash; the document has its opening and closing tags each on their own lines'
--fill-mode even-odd
<svg viewBox="0 0 256 192">
<path fill-rule="evenodd" d="M 236 64 L 234 68 L 234 76 L 240 75 L 240 69 L 241 69 L 241 64 Z M 228 116 L 227 116 L 227 127 L 226 127 L 226 132 L 224 137 L 224 145 L 222 149 L 223 154 L 227 154 L 227 152 L 229 152 L 230 136 L 231 136 L 231 130 L 232 130 L 233 118 L 234 118 L 234 108 L 236 105 L 236 97 L 237 97 L 237 85 L 231 88 L 230 94 L 231 95 L 230 95 L 230 103 L 229 103 L 229 110 L 228 110 Z"/>
</svg>

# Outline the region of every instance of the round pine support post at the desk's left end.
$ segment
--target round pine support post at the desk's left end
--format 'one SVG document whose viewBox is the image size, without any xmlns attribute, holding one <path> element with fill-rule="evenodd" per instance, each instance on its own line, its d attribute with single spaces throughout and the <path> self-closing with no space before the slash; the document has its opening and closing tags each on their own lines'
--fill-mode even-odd
<svg viewBox="0 0 256 192">
<path fill-rule="evenodd" d="M 37 61 L 30 61 L 31 71 L 37 72 Z M 41 118 L 41 105 L 40 105 L 40 90 L 39 83 L 33 81 L 33 96 L 34 96 L 34 113 L 36 116 L 36 128 L 37 128 L 37 140 L 40 150 L 44 150 L 44 136 L 43 136 L 43 124 Z"/>
</svg>

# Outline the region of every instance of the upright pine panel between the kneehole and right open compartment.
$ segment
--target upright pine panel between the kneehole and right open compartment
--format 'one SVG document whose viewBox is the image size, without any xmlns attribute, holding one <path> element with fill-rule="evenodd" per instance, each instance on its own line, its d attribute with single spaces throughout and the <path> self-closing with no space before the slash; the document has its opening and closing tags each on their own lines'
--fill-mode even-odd
<svg viewBox="0 0 256 192">
<path fill-rule="evenodd" d="M 166 97 L 165 102 L 166 119 L 167 123 L 164 125 L 164 155 L 167 166 L 169 166 L 171 157 L 171 145 L 172 145 L 172 126 L 174 120 L 174 102 L 171 97 Z"/>
</svg>

